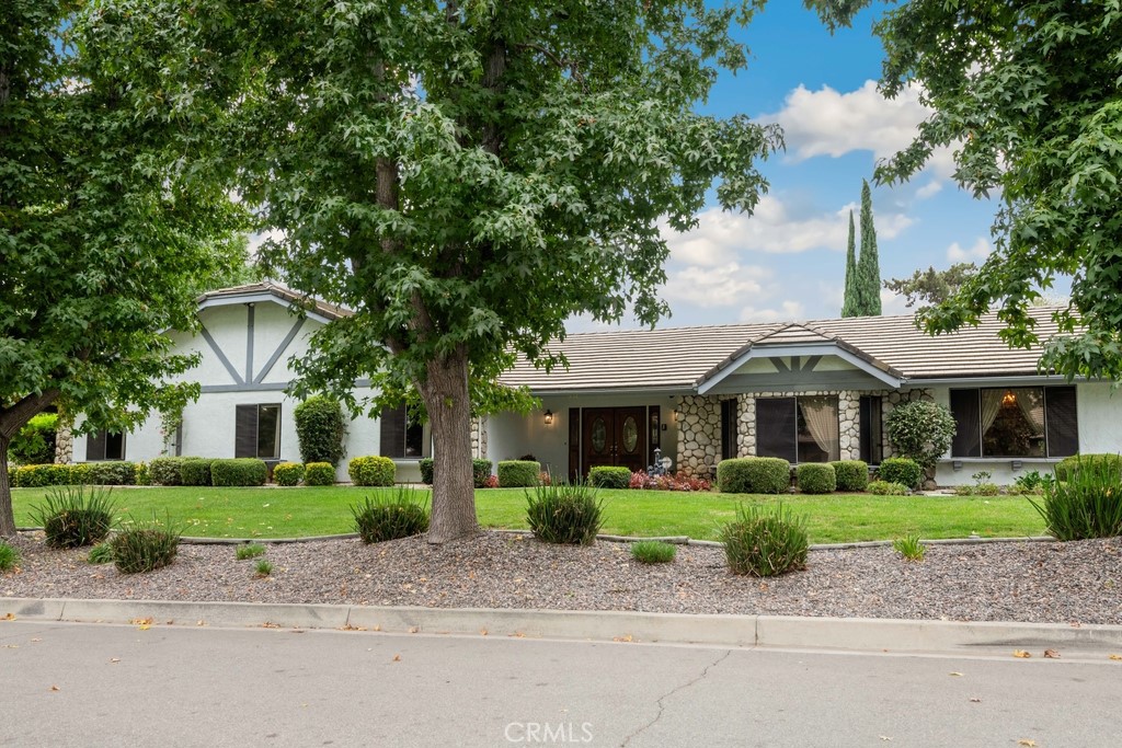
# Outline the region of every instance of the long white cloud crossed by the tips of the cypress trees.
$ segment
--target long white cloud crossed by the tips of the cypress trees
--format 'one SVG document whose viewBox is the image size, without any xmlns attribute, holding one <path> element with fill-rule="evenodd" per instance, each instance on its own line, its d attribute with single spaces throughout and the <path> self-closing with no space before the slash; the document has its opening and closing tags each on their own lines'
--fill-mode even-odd
<svg viewBox="0 0 1122 748">
<path fill-rule="evenodd" d="M 794 215 L 778 197 L 764 195 L 753 215 L 728 213 L 710 207 L 698 215 L 698 225 L 687 233 L 663 229 L 671 258 L 698 267 L 720 267 L 736 260 L 743 251 L 773 255 L 798 253 L 810 249 L 845 250 L 849 232 L 849 211 L 855 203 L 834 212 Z M 913 223 L 903 213 L 879 212 L 874 207 L 876 236 L 893 239 Z"/>
</svg>

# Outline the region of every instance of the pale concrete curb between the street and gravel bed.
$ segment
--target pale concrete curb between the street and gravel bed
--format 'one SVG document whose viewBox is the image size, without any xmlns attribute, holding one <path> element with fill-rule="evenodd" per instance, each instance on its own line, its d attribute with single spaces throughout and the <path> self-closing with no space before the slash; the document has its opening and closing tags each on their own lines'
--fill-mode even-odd
<svg viewBox="0 0 1122 748">
<path fill-rule="evenodd" d="M 957 622 L 635 611 L 511 610 L 167 600 L 0 599 L 4 620 L 333 628 L 394 634 L 967 654 L 1002 649 L 1122 649 L 1122 626 Z M 0 629 L 2 631 L 2 629 Z M 1039 652 L 1038 652 L 1039 654 Z"/>
</svg>

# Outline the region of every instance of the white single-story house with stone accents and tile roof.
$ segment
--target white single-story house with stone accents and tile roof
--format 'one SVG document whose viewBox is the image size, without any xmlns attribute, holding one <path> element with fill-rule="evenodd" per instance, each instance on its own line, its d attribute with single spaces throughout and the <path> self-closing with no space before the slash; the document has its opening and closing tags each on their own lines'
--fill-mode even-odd
<svg viewBox="0 0 1122 748">
<path fill-rule="evenodd" d="M 284 393 L 288 360 L 306 352 L 319 325 L 349 314 L 327 304 L 303 317 L 298 310 L 298 294 L 270 283 L 202 296 L 200 334 L 173 333 L 176 351 L 201 354 L 187 376 L 202 395 L 182 426 L 164 434 L 154 415 L 130 434 L 91 434 L 75 441 L 74 460 L 298 461 L 297 403 Z M 1033 312 L 1043 340 L 1055 332 L 1051 312 Z M 541 409 L 473 422 L 472 449 L 493 461 L 532 454 L 569 475 L 605 464 L 644 470 L 656 450 L 672 470 L 705 477 L 733 456 L 877 464 L 892 454 L 888 415 L 900 403 L 929 399 L 958 424 L 936 472 L 944 486 L 971 483 L 978 471 L 1010 483 L 1076 452 L 1119 451 L 1122 400 L 1112 398 L 1111 384 L 1041 373 L 1040 350 L 1010 350 L 1000 329 L 990 315 L 931 338 L 911 316 L 879 316 L 574 333 L 555 345 L 568 370 L 546 373 L 519 360 L 503 376 L 528 387 Z M 359 396 L 369 387 L 355 382 Z M 348 456 L 394 459 L 399 481 L 420 478 L 417 461 L 431 449 L 429 427 L 410 423 L 404 408 L 355 419 L 347 441 Z M 344 460 L 337 477 L 346 475 Z"/>
</svg>

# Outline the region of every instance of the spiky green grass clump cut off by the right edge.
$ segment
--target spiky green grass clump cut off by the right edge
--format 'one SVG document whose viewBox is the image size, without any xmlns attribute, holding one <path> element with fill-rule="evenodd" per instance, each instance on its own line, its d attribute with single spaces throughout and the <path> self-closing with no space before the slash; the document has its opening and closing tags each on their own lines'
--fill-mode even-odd
<svg viewBox="0 0 1122 748">
<path fill-rule="evenodd" d="M 1043 497 L 1029 504 L 1060 541 L 1122 535 L 1122 464 L 1078 462 L 1066 481 L 1045 484 Z"/>
</svg>

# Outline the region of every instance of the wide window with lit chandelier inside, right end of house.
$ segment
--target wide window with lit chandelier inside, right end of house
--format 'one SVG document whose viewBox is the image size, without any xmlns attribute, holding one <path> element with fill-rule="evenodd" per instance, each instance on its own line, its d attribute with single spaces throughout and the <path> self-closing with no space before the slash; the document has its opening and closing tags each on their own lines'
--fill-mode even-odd
<svg viewBox="0 0 1122 748">
<path fill-rule="evenodd" d="M 1064 458 L 1079 449 L 1075 387 L 950 390 L 956 458 Z"/>
</svg>

